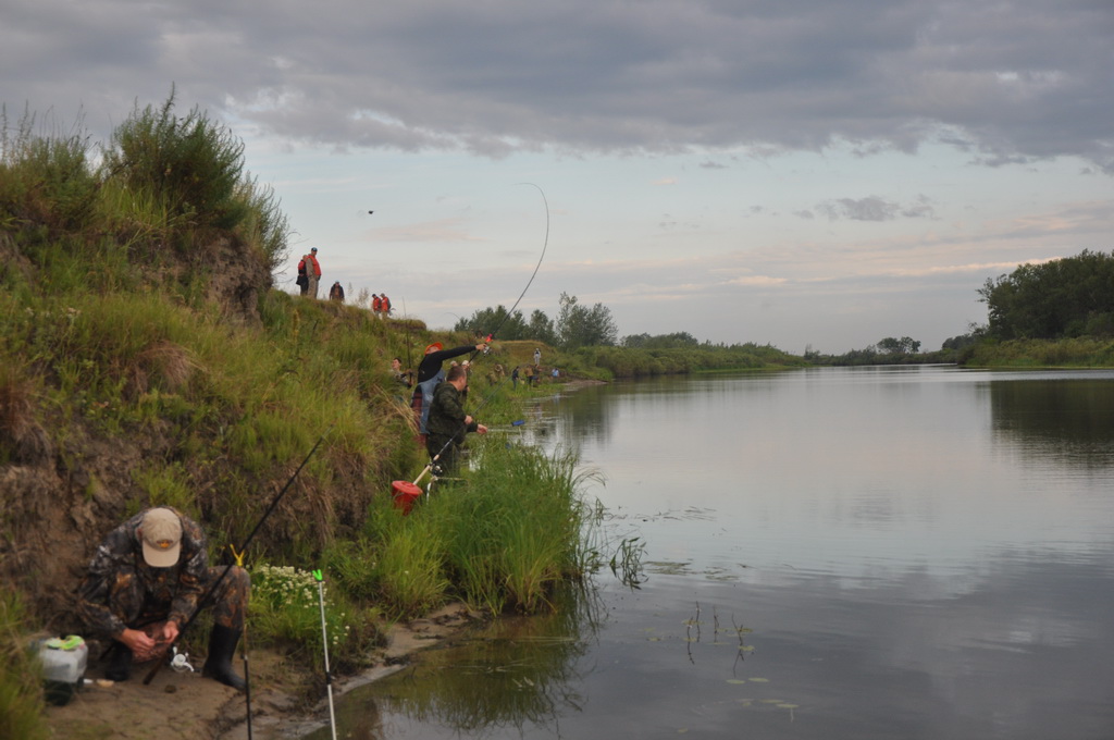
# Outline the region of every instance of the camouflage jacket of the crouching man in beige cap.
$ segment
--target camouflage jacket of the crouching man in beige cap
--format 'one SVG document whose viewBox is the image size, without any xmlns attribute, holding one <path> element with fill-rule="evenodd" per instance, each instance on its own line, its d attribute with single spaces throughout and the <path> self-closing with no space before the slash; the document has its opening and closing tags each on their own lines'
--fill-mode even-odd
<svg viewBox="0 0 1114 740">
<path fill-rule="evenodd" d="M 201 526 L 183 515 L 182 553 L 178 564 L 169 568 L 155 568 L 143 557 L 143 544 L 137 529 L 143 524 L 146 512 L 113 529 L 97 547 L 89 563 L 89 569 L 77 590 L 77 612 L 89 630 L 104 637 L 116 637 L 127 626 L 121 614 L 118 594 L 128 584 L 125 578 L 137 578 L 144 592 L 145 611 L 154 608 L 159 616 L 177 622 L 180 627 L 190 616 L 203 595 L 208 571 L 208 555 L 205 552 L 205 534 Z M 137 614 L 135 619 L 152 617 L 156 614 Z"/>
</svg>

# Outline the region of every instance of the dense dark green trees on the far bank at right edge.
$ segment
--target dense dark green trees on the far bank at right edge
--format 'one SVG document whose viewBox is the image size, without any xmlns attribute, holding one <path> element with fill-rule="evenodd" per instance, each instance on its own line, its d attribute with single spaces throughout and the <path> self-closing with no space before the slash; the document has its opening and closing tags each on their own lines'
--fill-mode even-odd
<svg viewBox="0 0 1114 740">
<path fill-rule="evenodd" d="M 1112 335 L 1114 256 L 1084 250 L 1074 257 L 1023 264 L 978 291 L 996 339 Z"/>
</svg>

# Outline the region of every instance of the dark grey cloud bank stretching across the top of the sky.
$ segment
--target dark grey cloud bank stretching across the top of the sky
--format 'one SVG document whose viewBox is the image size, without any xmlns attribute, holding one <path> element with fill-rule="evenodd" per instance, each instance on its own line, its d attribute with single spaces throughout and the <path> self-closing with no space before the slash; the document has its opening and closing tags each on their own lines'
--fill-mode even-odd
<svg viewBox="0 0 1114 740">
<path fill-rule="evenodd" d="M 229 120 L 338 147 L 868 154 L 939 140 L 987 165 L 1114 166 L 1114 11 L 1101 1 L 4 4 L 4 101 L 80 101 L 94 126 L 176 81 Z"/>
</svg>

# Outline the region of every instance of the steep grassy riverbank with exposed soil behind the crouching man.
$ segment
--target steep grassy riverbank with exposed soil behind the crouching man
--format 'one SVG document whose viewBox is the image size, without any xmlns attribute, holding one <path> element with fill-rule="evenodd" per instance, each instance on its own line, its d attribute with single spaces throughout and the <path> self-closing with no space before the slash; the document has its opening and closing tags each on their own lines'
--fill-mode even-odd
<svg viewBox="0 0 1114 740">
<path fill-rule="evenodd" d="M 319 439 L 247 553 L 256 646 L 320 655 L 305 604 L 316 600 L 306 580 L 315 568 L 329 578 L 331 654 L 355 668 L 384 619 L 449 600 L 547 610 L 556 583 L 592 566 L 575 459 L 507 449 L 497 435 L 471 436 L 475 469 L 457 489 L 410 516 L 391 506 L 391 481 L 426 463 L 391 358 L 476 338 L 275 290 L 289 230 L 226 130 L 197 111 L 177 116 L 173 98 L 137 109 L 100 157 L 81 136 L 3 125 L 6 656 L 33 631 L 81 633 L 69 603 L 76 574 L 120 520 L 178 507 L 203 524 L 221 562 Z M 497 343 L 477 358 L 470 401 L 494 425 L 548 392 L 488 383 L 487 363 L 500 357 L 511 356 Z M 2 737 L 40 731 L 41 698 L 25 669 L 6 660 L 0 673 L 0 722 L 27 722 Z"/>
</svg>

